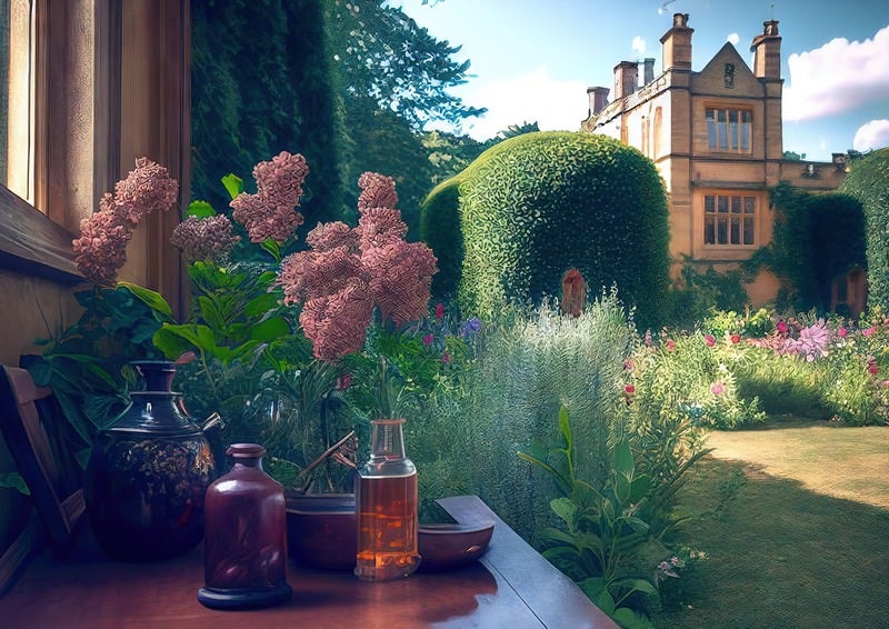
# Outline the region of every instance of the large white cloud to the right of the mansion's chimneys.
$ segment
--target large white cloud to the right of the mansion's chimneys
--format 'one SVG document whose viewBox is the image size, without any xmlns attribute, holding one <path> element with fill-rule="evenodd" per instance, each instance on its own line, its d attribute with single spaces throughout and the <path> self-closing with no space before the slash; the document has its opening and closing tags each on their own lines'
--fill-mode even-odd
<svg viewBox="0 0 889 629">
<path fill-rule="evenodd" d="M 785 120 L 811 120 L 889 98 L 889 27 L 873 39 L 837 38 L 787 59 Z"/>
</svg>

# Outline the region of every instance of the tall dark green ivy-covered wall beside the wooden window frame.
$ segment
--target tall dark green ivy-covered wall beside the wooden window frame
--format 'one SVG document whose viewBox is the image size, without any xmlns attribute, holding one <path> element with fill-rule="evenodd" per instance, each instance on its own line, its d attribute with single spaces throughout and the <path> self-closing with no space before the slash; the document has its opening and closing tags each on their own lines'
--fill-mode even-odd
<svg viewBox="0 0 889 629">
<path fill-rule="evenodd" d="M 342 108 L 324 0 L 192 0 L 192 198 L 217 210 L 220 178 L 252 180 L 282 150 L 306 156 L 307 223 L 346 211 Z"/>
</svg>

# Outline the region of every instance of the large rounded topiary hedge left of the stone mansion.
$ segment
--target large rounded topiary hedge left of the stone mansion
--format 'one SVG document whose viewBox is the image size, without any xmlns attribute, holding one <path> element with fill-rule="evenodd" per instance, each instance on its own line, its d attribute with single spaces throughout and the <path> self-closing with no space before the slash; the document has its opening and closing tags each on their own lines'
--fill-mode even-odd
<svg viewBox="0 0 889 629">
<path fill-rule="evenodd" d="M 660 320 L 669 284 L 667 198 L 638 150 L 582 132 L 526 133 L 488 149 L 439 193 L 452 194 L 455 183 L 463 312 L 490 316 L 507 302 L 558 296 L 573 267 L 590 296 L 617 286 L 637 322 Z"/>
</svg>

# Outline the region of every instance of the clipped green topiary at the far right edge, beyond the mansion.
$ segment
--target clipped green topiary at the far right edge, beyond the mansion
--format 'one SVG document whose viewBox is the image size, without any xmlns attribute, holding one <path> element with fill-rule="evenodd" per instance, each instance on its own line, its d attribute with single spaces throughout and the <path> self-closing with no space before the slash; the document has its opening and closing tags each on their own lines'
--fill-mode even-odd
<svg viewBox="0 0 889 629">
<path fill-rule="evenodd" d="M 889 312 L 889 148 L 852 160 L 840 191 L 865 208 L 868 306 Z"/>
</svg>

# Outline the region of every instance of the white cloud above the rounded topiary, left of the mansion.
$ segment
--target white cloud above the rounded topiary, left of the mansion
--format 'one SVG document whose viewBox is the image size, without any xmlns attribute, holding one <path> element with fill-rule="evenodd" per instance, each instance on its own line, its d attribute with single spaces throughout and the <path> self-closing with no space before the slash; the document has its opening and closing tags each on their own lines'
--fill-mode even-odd
<svg viewBox="0 0 889 629">
<path fill-rule="evenodd" d="M 483 102 L 488 112 L 463 123 L 476 140 L 487 140 L 510 124 L 537 122 L 541 130 L 579 131 L 587 118 L 589 100 L 582 81 L 557 81 L 545 66 L 507 79 L 466 86 L 460 92 L 465 102 Z"/>
</svg>

